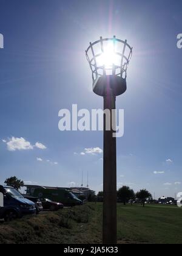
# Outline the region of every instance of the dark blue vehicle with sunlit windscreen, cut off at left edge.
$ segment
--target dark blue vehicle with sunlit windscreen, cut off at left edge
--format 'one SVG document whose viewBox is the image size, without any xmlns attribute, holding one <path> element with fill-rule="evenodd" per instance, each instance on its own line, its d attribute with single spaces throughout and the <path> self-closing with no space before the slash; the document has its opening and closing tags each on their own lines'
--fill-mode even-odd
<svg viewBox="0 0 182 256">
<path fill-rule="evenodd" d="M 35 214 L 35 204 L 25 199 L 15 188 L 0 186 L 3 195 L 3 205 L 0 207 L 0 219 L 11 221 L 23 215 Z"/>
</svg>

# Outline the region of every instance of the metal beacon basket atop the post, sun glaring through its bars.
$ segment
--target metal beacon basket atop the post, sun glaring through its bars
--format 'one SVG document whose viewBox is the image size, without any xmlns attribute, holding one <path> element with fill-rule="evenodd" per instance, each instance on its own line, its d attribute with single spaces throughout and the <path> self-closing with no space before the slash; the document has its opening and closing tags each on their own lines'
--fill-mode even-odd
<svg viewBox="0 0 182 256">
<path fill-rule="evenodd" d="M 127 67 L 132 57 L 132 48 L 127 40 L 115 36 L 100 37 L 98 41 L 90 43 L 86 57 L 92 70 L 93 91 L 96 94 L 106 96 L 108 86 L 115 96 L 126 91 Z"/>
</svg>

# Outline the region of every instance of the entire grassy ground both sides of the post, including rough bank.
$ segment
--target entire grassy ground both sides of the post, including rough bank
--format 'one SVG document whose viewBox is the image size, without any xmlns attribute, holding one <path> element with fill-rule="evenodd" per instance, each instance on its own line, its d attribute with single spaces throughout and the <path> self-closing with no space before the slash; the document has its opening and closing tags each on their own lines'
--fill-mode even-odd
<svg viewBox="0 0 182 256">
<path fill-rule="evenodd" d="M 101 243 L 102 204 L 0 224 L 0 243 Z M 118 204 L 118 243 L 182 243 L 182 208 Z"/>
</svg>

